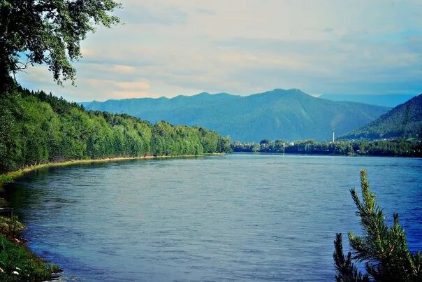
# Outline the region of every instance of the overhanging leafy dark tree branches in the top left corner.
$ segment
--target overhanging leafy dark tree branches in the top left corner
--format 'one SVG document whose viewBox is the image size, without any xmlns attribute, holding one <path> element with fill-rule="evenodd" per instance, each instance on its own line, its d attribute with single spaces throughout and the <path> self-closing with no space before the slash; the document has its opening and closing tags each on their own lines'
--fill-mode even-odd
<svg viewBox="0 0 422 282">
<path fill-rule="evenodd" d="M 74 83 L 80 41 L 98 24 L 117 24 L 110 15 L 117 8 L 113 0 L 0 0 L 0 91 L 28 64 L 46 64 L 57 83 Z"/>
</svg>

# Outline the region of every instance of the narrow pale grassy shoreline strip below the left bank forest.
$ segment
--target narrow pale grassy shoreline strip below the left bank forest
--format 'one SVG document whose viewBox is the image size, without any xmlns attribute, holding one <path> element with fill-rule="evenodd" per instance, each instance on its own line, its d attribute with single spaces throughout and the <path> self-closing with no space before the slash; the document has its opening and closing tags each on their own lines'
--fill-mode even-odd
<svg viewBox="0 0 422 282">
<path fill-rule="evenodd" d="M 126 160 L 153 160 L 153 159 L 166 159 L 166 158 L 177 158 L 177 157 L 205 157 L 210 155 L 224 155 L 224 153 L 207 153 L 202 155 L 146 155 L 142 157 L 105 157 L 103 159 L 84 159 L 84 160 L 66 160 L 63 162 L 46 162 L 44 164 L 35 164 L 23 169 L 15 171 L 9 171 L 6 174 L 0 174 L 0 188 L 3 184 L 14 181 L 17 178 L 28 174 L 31 171 L 38 169 L 47 169 L 50 167 L 67 167 L 73 164 L 92 164 L 99 162 L 123 162 Z"/>
</svg>

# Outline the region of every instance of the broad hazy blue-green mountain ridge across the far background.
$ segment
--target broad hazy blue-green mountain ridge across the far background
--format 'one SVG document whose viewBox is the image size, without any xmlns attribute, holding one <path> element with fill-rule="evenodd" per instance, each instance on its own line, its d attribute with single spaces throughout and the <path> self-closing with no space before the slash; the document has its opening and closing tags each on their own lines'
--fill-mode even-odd
<svg viewBox="0 0 422 282">
<path fill-rule="evenodd" d="M 201 125 L 238 141 L 329 140 L 375 120 L 389 108 L 329 101 L 296 89 L 250 96 L 201 93 L 172 99 L 123 99 L 85 103 L 87 109 L 127 113 L 143 120 Z"/>
</svg>

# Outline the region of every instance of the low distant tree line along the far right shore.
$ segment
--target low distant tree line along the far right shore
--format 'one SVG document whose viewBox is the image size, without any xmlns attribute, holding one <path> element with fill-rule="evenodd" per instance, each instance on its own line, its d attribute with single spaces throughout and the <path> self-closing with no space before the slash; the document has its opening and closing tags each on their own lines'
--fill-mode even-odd
<svg viewBox="0 0 422 282">
<path fill-rule="evenodd" d="M 377 141 L 314 141 L 286 142 L 263 139 L 260 143 L 233 142 L 234 152 L 296 153 L 319 155 L 376 155 L 421 157 L 420 139 L 391 139 Z"/>
</svg>

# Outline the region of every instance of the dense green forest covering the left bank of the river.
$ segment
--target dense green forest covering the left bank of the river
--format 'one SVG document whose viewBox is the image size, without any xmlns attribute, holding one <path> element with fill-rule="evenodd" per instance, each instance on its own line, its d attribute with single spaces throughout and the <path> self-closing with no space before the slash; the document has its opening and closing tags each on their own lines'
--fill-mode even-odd
<svg viewBox="0 0 422 282">
<path fill-rule="evenodd" d="M 201 127 L 85 111 L 21 87 L 0 97 L 0 121 L 0 173 L 44 162 L 231 150 L 228 138 Z"/>
</svg>

